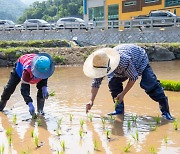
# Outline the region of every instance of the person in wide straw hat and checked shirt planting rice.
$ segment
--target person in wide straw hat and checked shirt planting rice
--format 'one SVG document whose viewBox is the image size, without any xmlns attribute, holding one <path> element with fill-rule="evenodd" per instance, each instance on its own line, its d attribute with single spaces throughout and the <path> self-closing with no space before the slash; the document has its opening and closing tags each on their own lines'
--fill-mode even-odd
<svg viewBox="0 0 180 154">
<path fill-rule="evenodd" d="M 116 103 L 115 111 L 109 115 L 124 113 L 124 96 L 133 87 L 141 76 L 140 86 L 151 99 L 159 103 L 162 116 L 173 120 L 169 112 L 168 98 L 157 80 L 145 50 L 134 44 L 122 44 L 114 48 L 102 48 L 93 52 L 83 65 L 84 74 L 93 78 L 91 98 L 86 104 L 86 113 L 92 108 L 98 89 L 105 76 L 108 76 L 108 86 L 113 101 Z M 123 89 L 125 80 L 128 79 Z"/>
</svg>

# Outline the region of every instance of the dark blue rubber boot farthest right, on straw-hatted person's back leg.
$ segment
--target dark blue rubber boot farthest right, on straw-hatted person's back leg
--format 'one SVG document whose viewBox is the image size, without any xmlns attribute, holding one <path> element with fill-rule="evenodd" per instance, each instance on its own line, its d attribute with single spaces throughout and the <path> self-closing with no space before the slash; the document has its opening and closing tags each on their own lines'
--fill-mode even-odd
<svg viewBox="0 0 180 154">
<path fill-rule="evenodd" d="M 167 97 L 164 100 L 161 100 L 159 102 L 159 108 L 162 112 L 162 117 L 164 117 L 167 120 L 174 120 L 174 118 L 171 116 L 171 114 L 169 112 L 169 105 L 168 105 Z"/>
</svg>

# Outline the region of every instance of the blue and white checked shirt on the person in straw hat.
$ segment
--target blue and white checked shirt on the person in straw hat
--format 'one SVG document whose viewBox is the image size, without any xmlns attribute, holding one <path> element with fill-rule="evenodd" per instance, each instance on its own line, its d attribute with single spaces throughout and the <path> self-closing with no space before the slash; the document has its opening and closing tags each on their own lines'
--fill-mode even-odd
<svg viewBox="0 0 180 154">
<path fill-rule="evenodd" d="M 149 63 L 146 51 L 134 44 L 122 44 L 114 49 L 119 52 L 120 61 L 118 67 L 108 75 L 108 80 L 112 77 L 120 77 L 136 81 Z M 103 78 L 93 79 L 92 87 L 99 88 Z"/>
</svg>

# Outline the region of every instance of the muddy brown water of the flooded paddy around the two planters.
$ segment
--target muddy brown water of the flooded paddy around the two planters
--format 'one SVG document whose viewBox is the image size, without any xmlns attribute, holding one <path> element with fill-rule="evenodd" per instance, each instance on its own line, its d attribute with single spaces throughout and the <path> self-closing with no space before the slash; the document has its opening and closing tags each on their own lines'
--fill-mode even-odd
<svg viewBox="0 0 180 154">
<path fill-rule="evenodd" d="M 155 62 L 151 66 L 159 79 L 180 80 L 180 61 Z M 11 68 L 0 68 L 0 92 L 10 71 Z M 90 85 L 91 79 L 84 76 L 81 66 L 57 67 L 49 79 L 49 91 L 55 91 L 55 96 L 49 97 L 45 103 L 46 115 L 36 120 L 31 119 L 18 85 L 4 112 L 0 113 L 0 146 L 4 146 L 5 153 L 58 153 L 63 151 L 62 142 L 65 143 L 67 154 L 119 154 L 125 153 L 128 144 L 131 145 L 131 153 L 180 153 L 179 92 L 165 91 L 170 111 L 179 119 L 178 130 L 174 130 L 174 123 L 161 117 L 160 124 L 156 124 L 155 117 L 160 116 L 158 104 L 139 87 L 139 80 L 125 97 L 125 114 L 108 117 L 107 113 L 114 110 L 114 105 L 105 79 L 90 111 L 93 116 L 91 122 L 85 114 Z M 36 91 L 36 87 L 31 86 L 35 106 Z M 73 115 L 72 121 L 70 114 Z M 16 124 L 13 122 L 14 115 L 17 117 Z M 104 125 L 102 117 L 105 118 Z M 84 121 L 82 128 L 80 121 Z M 12 128 L 11 146 L 6 136 L 9 128 Z M 38 148 L 32 132 L 39 139 Z M 108 139 L 107 132 L 110 132 Z"/>
</svg>

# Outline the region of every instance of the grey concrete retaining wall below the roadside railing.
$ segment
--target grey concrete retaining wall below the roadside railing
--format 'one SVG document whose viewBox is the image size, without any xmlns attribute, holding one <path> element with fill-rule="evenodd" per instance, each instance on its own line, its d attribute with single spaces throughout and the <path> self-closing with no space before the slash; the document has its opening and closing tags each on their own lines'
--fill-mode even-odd
<svg viewBox="0 0 180 154">
<path fill-rule="evenodd" d="M 60 30 L 60 31 L 6 31 L 0 32 L 0 40 L 77 40 L 85 45 L 117 44 L 117 43 L 163 43 L 180 42 L 180 28 L 169 27 L 164 29 L 145 28 L 100 30 Z"/>
</svg>

